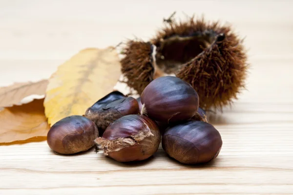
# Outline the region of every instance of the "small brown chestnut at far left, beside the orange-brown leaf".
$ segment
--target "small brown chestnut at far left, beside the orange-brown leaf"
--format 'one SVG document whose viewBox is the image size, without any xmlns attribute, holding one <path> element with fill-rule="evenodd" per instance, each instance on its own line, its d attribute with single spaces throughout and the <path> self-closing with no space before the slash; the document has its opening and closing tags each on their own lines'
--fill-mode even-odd
<svg viewBox="0 0 293 195">
<path fill-rule="evenodd" d="M 65 117 L 56 122 L 47 134 L 49 147 L 60 154 L 69 155 L 86 151 L 95 145 L 99 136 L 93 121 L 83 116 Z"/>
</svg>

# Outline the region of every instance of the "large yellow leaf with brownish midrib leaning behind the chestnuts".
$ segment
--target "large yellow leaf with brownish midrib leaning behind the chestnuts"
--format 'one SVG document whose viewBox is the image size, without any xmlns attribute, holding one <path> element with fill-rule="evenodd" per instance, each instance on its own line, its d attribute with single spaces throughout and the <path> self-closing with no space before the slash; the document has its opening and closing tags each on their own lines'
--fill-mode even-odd
<svg viewBox="0 0 293 195">
<path fill-rule="evenodd" d="M 48 123 L 53 125 L 64 117 L 84 115 L 89 106 L 113 91 L 120 68 L 113 47 L 82 50 L 60 65 L 46 90 L 44 107 Z"/>
</svg>

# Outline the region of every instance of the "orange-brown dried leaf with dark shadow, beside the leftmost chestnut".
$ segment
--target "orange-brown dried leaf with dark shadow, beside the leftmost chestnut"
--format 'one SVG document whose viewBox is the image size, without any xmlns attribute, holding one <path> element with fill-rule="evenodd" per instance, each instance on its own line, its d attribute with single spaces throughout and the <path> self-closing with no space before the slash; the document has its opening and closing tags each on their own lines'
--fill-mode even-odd
<svg viewBox="0 0 293 195">
<path fill-rule="evenodd" d="M 47 136 L 49 125 L 44 114 L 43 98 L 4 108 L 0 111 L 0 143 Z"/>
</svg>

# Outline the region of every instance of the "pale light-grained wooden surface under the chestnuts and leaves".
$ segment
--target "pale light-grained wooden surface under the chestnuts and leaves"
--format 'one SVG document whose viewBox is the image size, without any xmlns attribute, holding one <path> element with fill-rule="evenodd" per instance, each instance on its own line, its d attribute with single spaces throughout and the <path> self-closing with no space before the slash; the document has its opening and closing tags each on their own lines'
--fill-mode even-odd
<svg viewBox="0 0 293 195">
<path fill-rule="evenodd" d="M 90 150 L 50 151 L 44 138 L 0 145 L 0 195 L 16 194 L 292 194 L 292 1 L 42 1 L 0 0 L 0 86 L 48 78 L 86 47 L 149 39 L 173 11 L 230 22 L 246 37 L 247 90 L 210 122 L 220 155 L 187 166 L 163 149 L 122 164 Z M 151 14 L 150 14 L 151 13 Z"/>
</svg>

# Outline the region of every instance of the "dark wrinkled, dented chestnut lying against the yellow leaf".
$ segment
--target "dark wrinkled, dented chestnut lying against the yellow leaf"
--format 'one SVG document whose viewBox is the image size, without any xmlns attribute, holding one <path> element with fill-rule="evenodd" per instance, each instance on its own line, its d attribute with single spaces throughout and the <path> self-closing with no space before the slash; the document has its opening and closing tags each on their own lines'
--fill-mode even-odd
<svg viewBox="0 0 293 195">
<path fill-rule="evenodd" d="M 102 136 L 111 122 L 120 117 L 138 113 L 139 105 L 136 99 L 112 92 L 89 107 L 84 116 L 95 122 Z"/>
</svg>

